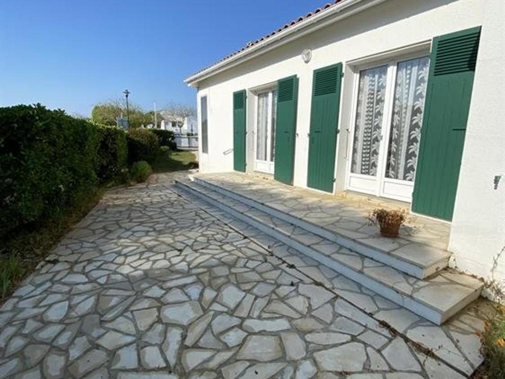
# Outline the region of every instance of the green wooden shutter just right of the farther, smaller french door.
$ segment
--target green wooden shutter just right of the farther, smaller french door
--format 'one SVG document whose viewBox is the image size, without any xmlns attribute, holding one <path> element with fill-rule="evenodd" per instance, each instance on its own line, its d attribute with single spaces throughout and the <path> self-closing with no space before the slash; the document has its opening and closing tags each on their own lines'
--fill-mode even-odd
<svg viewBox="0 0 505 379">
<path fill-rule="evenodd" d="M 277 82 L 274 178 L 286 184 L 293 184 L 297 100 L 298 78 L 296 75 L 279 80 Z"/>
</svg>

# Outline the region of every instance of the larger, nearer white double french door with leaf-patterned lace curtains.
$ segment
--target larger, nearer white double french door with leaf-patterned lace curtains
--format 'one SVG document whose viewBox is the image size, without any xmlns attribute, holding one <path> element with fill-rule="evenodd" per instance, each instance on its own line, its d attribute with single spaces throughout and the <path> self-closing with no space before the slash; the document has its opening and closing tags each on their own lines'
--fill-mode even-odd
<svg viewBox="0 0 505 379">
<path fill-rule="evenodd" d="M 347 188 L 412 201 L 429 58 L 359 73 Z"/>
</svg>

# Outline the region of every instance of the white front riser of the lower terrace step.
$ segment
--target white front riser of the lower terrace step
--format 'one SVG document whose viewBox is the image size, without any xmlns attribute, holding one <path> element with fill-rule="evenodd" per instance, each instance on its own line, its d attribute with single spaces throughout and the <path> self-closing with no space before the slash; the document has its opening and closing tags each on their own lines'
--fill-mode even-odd
<svg viewBox="0 0 505 379">
<path fill-rule="evenodd" d="M 354 280 L 360 283 L 362 286 L 368 288 L 369 290 L 383 296 L 384 298 L 409 309 L 410 311 L 420 315 L 421 317 L 426 318 L 427 320 L 441 325 L 445 320 L 451 317 L 453 314 L 457 313 L 460 309 L 464 308 L 466 305 L 470 304 L 472 301 L 476 300 L 480 295 L 479 291 L 474 291 L 469 294 L 463 301 L 459 302 L 449 310 L 443 312 L 441 310 L 435 309 L 429 304 L 413 299 L 409 295 L 401 294 L 397 290 L 385 285 L 384 283 L 377 281 L 364 273 L 357 272 L 354 268 L 351 268 L 341 262 L 338 262 L 324 254 L 321 254 L 310 247 L 303 245 L 297 241 L 291 239 L 288 235 L 283 232 L 278 231 L 277 229 L 267 226 L 264 223 L 255 220 L 254 218 L 247 216 L 243 213 L 240 213 L 234 210 L 231 207 L 228 207 L 222 204 L 219 201 L 216 201 L 210 197 L 207 197 L 205 194 L 200 193 L 196 189 L 192 188 L 190 185 L 176 180 L 176 184 L 181 187 L 184 191 L 196 196 L 197 198 L 205 201 L 211 206 L 214 206 L 222 211 L 230 214 L 231 216 L 256 227 L 258 230 L 272 236 L 278 241 L 292 247 L 293 249 L 309 256 L 310 258 L 318 261 L 319 263 L 337 271 L 338 273 L 346 276 L 347 278 Z"/>
</svg>

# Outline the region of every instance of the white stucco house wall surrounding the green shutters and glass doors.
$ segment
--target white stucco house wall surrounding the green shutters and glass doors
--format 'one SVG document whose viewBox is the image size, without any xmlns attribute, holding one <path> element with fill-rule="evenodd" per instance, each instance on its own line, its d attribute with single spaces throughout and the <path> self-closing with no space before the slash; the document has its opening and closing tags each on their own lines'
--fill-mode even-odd
<svg viewBox="0 0 505 379">
<path fill-rule="evenodd" d="M 502 0 L 386 0 L 199 82 L 198 117 L 201 96 L 208 96 L 209 108 L 209 154 L 202 154 L 200 147 L 200 170 L 233 170 L 233 153 L 223 154 L 233 148 L 232 93 L 296 74 L 299 87 L 293 181 L 294 185 L 306 187 L 313 71 L 342 62 L 345 76 L 342 82 L 335 191 L 343 190 L 349 143 L 346 129 L 354 116 L 350 114 L 352 71 L 347 62 L 423 42 L 425 44 L 422 49 L 427 53 L 429 42 L 434 36 L 482 25 L 450 250 L 456 253 L 458 267 L 489 277 L 492 259 L 499 253 L 505 239 L 505 176 L 501 178 L 498 189 L 492 189 L 494 175 L 505 175 L 505 126 L 500 112 L 495 111 L 505 109 L 502 104 L 503 67 L 500 65 L 504 49 L 499 46 L 503 38 L 501 2 Z M 308 48 L 312 49 L 313 57 L 306 64 L 301 60 L 300 54 Z M 499 73 L 501 78 L 498 79 L 496 76 Z M 248 101 L 251 98 L 249 96 Z M 501 98 L 501 104 L 497 98 Z M 251 109 L 250 104 L 247 109 Z M 252 145 L 251 138 L 254 138 L 251 132 L 254 125 L 249 122 L 250 119 L 248 117 L 249 146 Z M 198 131 L 201 135 L 201 130 Z M 471 230 L 476 230 L 477 234 Z M 500 280 L 505 278 L 502 264 L 494 274 Z"/>
</svg>

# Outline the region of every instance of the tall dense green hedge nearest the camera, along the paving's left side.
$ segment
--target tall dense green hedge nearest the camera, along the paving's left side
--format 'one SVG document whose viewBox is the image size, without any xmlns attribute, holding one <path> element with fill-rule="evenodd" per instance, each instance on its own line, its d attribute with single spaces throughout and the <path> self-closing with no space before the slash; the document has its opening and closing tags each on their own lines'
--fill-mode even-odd
<svg viewBox="0 0 505 379">
<path fill-rule="evenodd" d="M 40 104 L 0 108 L 0 240 L 93 194 L 124 164 L 124 134 Z"/>
</svg>

